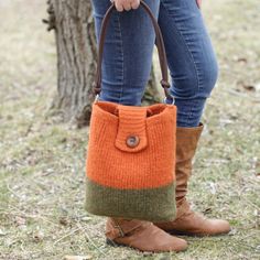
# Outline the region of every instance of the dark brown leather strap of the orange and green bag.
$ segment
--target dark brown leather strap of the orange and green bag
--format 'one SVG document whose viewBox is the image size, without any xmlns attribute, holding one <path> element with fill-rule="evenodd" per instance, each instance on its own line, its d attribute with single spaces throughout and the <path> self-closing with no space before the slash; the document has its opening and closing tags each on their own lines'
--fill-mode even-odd
<svg viewBox="0 0 260 260">
<path fill-rule="evenodd" d="M 165 47 L 164 47 L 164 42 L 163 42 L 163 36 L 161 29 L 158 24 L 156 19 L 154 18 L 152 11 L 148 7 L 145 2 L 141 0 L 141 6 L 143 9 L 147 11 L 148 15 L 150 17 L 155 35 L 156 35 L 156 47 L 158 47 L 158 53 L 159 53 L 159 61 L 160 61 L 160 68 L 162 73 L 162 80 L 161 85 L 164 88 L 164 93 L 166 98 L 170 98 L 173 100 L 173 96 L 169 93 L 170 84 L 169 84 L 169 78 L 167 78 L 167 59 L 166 59 L 166 53 L 165 53 Z M 105 37 L 106 37 L 106 30 L 108 25 L 109 18 L 111 17 L 112 10 L 115 8 L 115 3 L 111 3 L 109 9 L 107 10 L 102 24 L 101 24 L 101 31 L 100 31 L 100 37 L 99 37 L 99 46 L 98 46 L 98 58 L 97 58 L 97 71 L 96 71 L 96 76 L 95 76 L 95 83 L 94 83 L 94 91 L 96 95 L 99 95 L 101 91 L 101 64 L 102 64 L 102 54 L 104 54 L 104 45 L 105 45 Z"/>
</svg>

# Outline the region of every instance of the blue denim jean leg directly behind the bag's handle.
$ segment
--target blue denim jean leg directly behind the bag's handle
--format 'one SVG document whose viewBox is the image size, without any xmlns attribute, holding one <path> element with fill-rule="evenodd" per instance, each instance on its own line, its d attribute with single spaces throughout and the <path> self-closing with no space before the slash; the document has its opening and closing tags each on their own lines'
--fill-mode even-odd
<svg viewBox="0 0 260 260">
<path fill-rule="evenodd" d="M 159 0 L 145 1 L 155 17 Z M 97 42 L 109 0 L 93 0 Z M 149 80 L 155 34 L 142 8 L 113 11 L 106 33 L 99 100 L 140 106 Z"/>
</svg>

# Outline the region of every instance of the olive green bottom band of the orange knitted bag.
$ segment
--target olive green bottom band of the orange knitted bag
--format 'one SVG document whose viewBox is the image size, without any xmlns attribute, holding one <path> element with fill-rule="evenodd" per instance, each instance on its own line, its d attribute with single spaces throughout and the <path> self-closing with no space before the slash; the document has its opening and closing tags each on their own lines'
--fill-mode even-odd
<svg viewBox="0 0 260 260">
<path fill-rule="evenodd" d="M 99 216 L 153 223 L 176 217 L 175 182 L 159 188 L 118 189 L 86 180 L 86 210 Z"/>
</svg>

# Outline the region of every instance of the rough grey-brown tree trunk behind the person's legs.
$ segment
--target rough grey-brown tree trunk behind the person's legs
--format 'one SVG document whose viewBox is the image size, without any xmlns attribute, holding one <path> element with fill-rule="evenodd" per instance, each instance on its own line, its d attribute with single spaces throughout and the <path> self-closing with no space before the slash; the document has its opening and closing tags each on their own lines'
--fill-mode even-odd
<svg viewBox="0 0 260 260">
<path fill-rule="evenodd" d="M 96 71 L 96 37 L 91 3 L 86 0 L 48 0 L 48 30 L 55 30 L 57 47 L 57 95 L 53 107 L 65 121 L 78 127 L 88 124 L 95 99 L 93 82 Z M 152 69 L 143 104 L 159 101 Z"/>
</svg>

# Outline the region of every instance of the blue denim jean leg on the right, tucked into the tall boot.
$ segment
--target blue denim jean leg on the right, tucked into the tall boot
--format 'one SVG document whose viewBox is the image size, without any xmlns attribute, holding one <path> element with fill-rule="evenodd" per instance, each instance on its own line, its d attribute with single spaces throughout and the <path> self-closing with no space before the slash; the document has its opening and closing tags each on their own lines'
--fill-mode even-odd
<svg viewBox="0 0 260 260">
<path fill-rule="evenodd" d="M 196 127 L 218 73 L 196 0 L 161 0 L 159 24 L 171 72 L 171 94 L 177 106 L 177 126 Z"/>
</svg>

